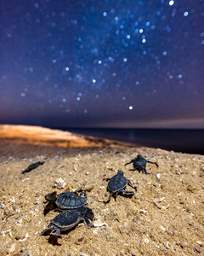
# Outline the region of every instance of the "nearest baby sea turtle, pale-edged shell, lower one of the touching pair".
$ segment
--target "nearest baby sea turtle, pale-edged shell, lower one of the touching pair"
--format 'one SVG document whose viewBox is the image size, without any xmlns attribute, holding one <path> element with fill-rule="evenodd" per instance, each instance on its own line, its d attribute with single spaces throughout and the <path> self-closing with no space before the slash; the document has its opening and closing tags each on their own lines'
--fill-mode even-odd
<svg viewBox="0 0 204 256">
<path fill-rule="evenodd" d="M 93 225 L 90 223 L 89 219 L 93 220 L 93 218 L 94 212 L 88 207 L 80 207 L 76 210 L 61 212 L 51 220 L 51 223 L 48 225 L 48 229 L 43 230 L 41 236 L 50 235 L 62 238 L 60 235 L 61 231 L 70 230 L 82 220 L 88 228 L 92 228 Z"/>
</svg>

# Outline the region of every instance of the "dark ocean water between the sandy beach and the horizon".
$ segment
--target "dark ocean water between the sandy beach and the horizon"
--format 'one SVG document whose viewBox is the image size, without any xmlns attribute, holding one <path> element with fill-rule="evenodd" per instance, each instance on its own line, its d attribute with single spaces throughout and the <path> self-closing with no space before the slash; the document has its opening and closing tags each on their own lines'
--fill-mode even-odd
<svg viewBox="0 0 204 256">
<path fill-rule="evenodd" d="M 161 148 L 175 152 L 204 154 L 204 130 L 178 129 L 87 129 L 54 128 L 82 135 L 103 137 L 123 143 L 132 143 L 150 148 Z"/>
</svg>

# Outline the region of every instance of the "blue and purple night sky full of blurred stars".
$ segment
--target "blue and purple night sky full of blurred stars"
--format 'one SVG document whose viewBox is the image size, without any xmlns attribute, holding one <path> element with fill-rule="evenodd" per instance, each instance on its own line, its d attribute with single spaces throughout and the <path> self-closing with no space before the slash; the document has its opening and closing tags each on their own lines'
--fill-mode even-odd
<svg viewBox="0 0 204 256">
<path fill-rule="evenodd" d="M 1 124 L 204 128 L 204 0 L 0 4 Z"/>
</svg>

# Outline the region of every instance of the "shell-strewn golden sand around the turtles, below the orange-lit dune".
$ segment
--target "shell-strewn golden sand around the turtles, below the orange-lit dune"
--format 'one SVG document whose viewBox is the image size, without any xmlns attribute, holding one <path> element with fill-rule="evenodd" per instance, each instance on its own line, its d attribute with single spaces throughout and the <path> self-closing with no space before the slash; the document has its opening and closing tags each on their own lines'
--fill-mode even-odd
<svg viewBox="0 0 204 256">
<path fill-rule="evenodd" d="M 124 164 L 137 154 L 159 167 L 147 164 L 150 175 L 128 171 L 133 166 Z M 39 160 L 42 166 L 21 173 Z M 119 170 L 138 186 L 137 192 L 105 204 L 109 192 L 103 178 Z M 202 155 L 116 145 L 48 147 L 2 139 L 0 177 L 0 255 L 204 255 Z M 59 177 L 65 189 L 52 187 Z M 94 223 L 101 226 L 78 224 L 58 240 L 41 236 L 59 214 L 44 212 L 44 196 L 80 188 L 87 191 Z"/>
</svg>

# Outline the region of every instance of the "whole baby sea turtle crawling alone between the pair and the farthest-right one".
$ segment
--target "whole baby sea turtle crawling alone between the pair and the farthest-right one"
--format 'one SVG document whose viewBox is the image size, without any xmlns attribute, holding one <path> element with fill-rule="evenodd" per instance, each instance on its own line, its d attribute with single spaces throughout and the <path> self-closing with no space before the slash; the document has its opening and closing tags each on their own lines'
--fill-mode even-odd
<svg viewBox="0 0 204 256">
<path fill-rule="evenodd" d="M 133 195 L 133 191 L 124 190 L 127 184 L 132 188 L 133 188 L 133 185 L 126 177 L 124 177 L 124 174 L 122 171 L 117 172 L 117 174 L 111 178 L 104 178 L 104 180 L 106 181 L 110 180 L 107 187 L 107 189 L 110 191 L 110 195 L 109 195 L 109 199 L 105 201 L 105 204 L 111 200 L 111 196 L 113 194 L 117 196 L 118 192 L 122 192 L 125 195 Z"/>
</svg>

